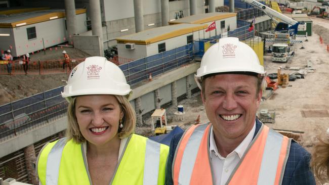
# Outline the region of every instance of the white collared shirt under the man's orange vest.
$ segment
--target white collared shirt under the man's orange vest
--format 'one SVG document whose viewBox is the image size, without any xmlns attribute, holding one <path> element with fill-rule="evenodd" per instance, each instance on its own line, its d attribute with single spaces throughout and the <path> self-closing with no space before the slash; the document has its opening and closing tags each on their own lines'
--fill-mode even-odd
<svg viewBox="0 0 329 185">
<path fill-rule="evenodd" d="M 246 135 L 246 137 L 240 143 L 240 145 L 237 146 L 230 154 L 228 154 L 226 158 L 222 157 L 217 150 L 213 127 L 211 128 L 210 131 L 211 133 L 210 133 L 209 151 L 210 151 L 210 159 L 213 168 L 215 184 L 222 185 L 227 182 L 235 166 L 238 164 L 244 152 L 248 148 L 249 144 L 252 142 L 253 136 L 256 131 L 256 121 L 254 123 L 253 128 L 250 130 L 248 135 Z"/>
</svg>

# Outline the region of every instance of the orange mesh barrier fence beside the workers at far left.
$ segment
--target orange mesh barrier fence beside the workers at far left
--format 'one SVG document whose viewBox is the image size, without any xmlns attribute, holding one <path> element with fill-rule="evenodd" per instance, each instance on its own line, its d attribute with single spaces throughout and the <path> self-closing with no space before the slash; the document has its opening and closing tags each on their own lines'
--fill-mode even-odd
<svg viewBox="0 0 329 185">
<path fill-rule="evenodd" d="M 55 74 L 55 73 L 69 73 L 80 62 L 84 61 L 85 58 L 72 59 L 69 64 L 65 64 L 63 69 L 64 60 L 49 60 L 49 61 L 30 61 L 28 63 L 28 74 Z M 0 74 L 8 74 L 8 68 L 11 67 L 11 74 L 25 74 L 24 64 L 21 60 L 11 61 L 0 61 Z"/>
</svg>

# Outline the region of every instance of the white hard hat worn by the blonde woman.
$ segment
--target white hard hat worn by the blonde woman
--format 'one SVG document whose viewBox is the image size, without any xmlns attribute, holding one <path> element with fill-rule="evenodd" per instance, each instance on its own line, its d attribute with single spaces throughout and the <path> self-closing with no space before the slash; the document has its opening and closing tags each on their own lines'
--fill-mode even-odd
<svg viewBox="0 0 329 185">
<path fill-rule="evenodd" d="M 130 95 L 132 89 L 121 69 L 104 57 L 88 57 L 71 71 L 63 98 L 79 95 Z M 67 99 L 69 100 L 69 99 Z"/>
</svg>

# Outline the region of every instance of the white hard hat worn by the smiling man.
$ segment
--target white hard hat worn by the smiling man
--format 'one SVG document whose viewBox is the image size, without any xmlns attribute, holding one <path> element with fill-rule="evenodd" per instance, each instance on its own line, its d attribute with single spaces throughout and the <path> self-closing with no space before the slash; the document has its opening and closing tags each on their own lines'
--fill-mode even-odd
<svg viewBox="0 0 329 185">
<path fill-rule="evenodd" d="M 219 39 L 203 55 L 195 81 L 201 89 L 201 77 L 213 73 L 252 72 L 265 74 L 254 50 L 236 37 Z"/>
</svg>

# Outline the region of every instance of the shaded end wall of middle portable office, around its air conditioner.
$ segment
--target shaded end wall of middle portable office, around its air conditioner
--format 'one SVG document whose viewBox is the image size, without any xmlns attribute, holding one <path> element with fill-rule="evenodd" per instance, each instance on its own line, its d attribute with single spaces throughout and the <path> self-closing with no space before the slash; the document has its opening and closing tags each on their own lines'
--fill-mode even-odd
<svg viewBox="0 0 329 185">
<path fill-rule="evenodd" d="M 125 43 L 117 44 L 118 56 L 126 59 L 141 59 L 147 56 L 146 45 L 135 44 L 135 49 L 128 50 L 126 49 Z"/>
</svg>

